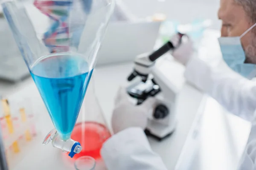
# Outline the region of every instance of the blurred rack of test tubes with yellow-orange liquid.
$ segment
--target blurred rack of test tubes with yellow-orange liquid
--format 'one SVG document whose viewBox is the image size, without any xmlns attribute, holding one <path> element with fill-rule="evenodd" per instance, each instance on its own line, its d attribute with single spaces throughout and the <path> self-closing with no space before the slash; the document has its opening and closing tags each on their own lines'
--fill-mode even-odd
<svg viewBox="0 0 256 170">
<path fill-rule="evenodd" d="M 31 105 L 18 100 L 16 95 L 0 98 L 0 123 L 5 155 L 9 169 L 14 169 L 34 147 L 37 139 L 32 126 L 35 119 L 29 119 Z"/>
</svg>

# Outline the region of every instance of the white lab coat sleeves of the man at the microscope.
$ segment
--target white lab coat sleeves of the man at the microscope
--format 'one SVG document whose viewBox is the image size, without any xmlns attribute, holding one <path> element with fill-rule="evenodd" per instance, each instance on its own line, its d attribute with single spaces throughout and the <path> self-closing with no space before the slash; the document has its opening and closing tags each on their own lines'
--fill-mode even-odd
<svg viewBox="0 0 256 170">
<path fill-rule="evenodd" d="M 231 70 L 212 68 L 196 57 L 186 66 L 185 77 L 230 113 L 250 121 L 254 118 L 256 82 Z M 167 170 L 160 157 L 151 150 L 143 130 L 136 127 L 113 135 L 105 142 L 101 154 L 109 170 Z"/>
</svg>

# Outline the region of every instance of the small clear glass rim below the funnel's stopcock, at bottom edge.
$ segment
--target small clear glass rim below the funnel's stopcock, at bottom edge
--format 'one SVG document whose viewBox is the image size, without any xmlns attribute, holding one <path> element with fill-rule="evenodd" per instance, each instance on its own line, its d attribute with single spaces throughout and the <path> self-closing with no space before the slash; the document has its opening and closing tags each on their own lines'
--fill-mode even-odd
<svg viewBox="0 0 256 170">
<path fill-rule="evenodd" d="M 76 170 L 94 170 L 95 169 L 95 159 L 90 156 L 81 156 L 75 161 Z"/>
</svg>

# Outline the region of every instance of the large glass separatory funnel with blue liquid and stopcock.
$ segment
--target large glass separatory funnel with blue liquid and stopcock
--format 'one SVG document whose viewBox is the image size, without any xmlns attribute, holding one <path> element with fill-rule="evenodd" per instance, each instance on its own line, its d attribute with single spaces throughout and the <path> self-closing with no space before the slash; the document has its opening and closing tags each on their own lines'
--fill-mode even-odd
<svg viewBox="0 0 256 170">
<path fill-rule="evenodd" d="M 2 7 L 55 126 L 43 144 L 52 142 L 72 158 L 82 150 L 70 136 L 114 0 L 12 0 Z"/>
</svg>

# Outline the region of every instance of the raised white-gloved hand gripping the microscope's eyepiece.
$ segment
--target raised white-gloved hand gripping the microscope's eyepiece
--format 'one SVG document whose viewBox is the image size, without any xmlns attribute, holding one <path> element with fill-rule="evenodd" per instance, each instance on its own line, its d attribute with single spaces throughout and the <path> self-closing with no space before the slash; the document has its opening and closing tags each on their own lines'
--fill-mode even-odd
<svg viewBox="0 0 256 170">
<path fill-rule="evenodd" d="M 170 41 L 176 48 L 173 51 L 172 56 L 181 64 L 186 65 L 194 52 L 192 40 L 190 40 L 187 35 L 183 35 L 180 43 L 179 35 L 175 34 Z"/>
</svg>

